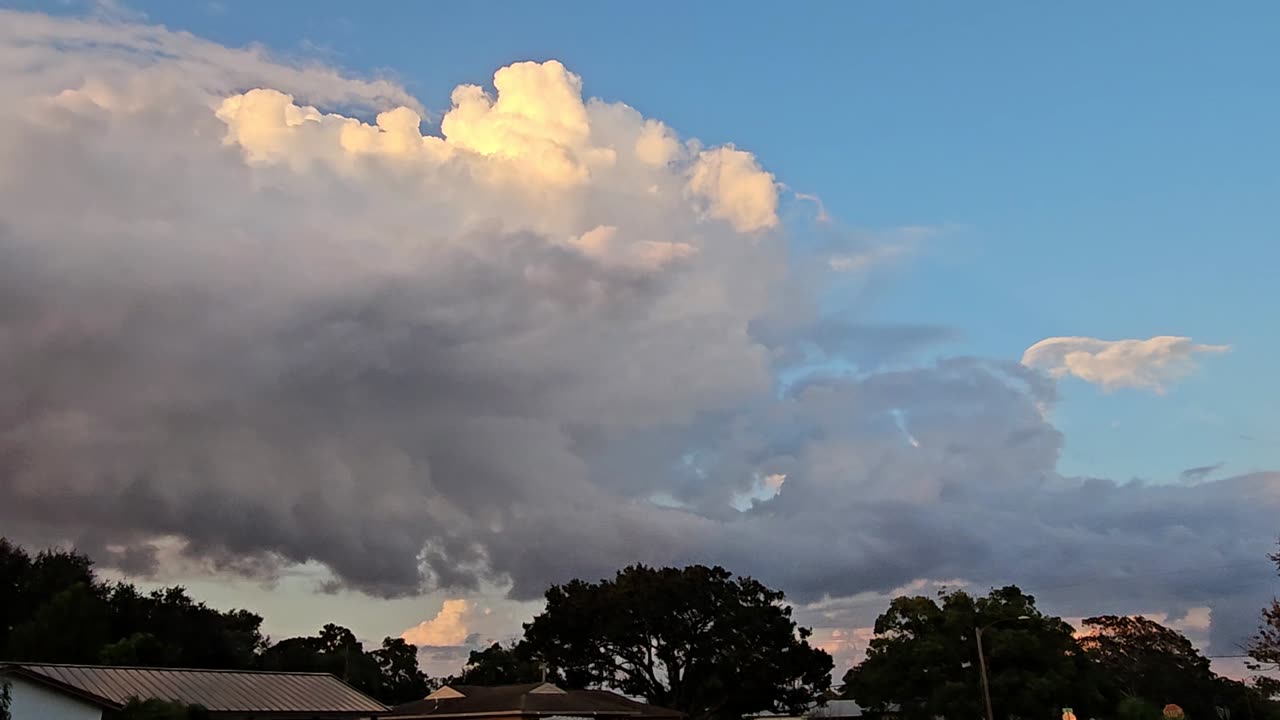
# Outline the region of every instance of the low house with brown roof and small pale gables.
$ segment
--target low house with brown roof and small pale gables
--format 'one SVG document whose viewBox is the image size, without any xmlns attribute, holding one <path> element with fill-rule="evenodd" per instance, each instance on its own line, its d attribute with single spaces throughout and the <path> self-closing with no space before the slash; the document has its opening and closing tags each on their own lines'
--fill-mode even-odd
<svg viewBox="0 0 1280 720">
<path fill-rule="evenodd" d="M 396 706 L 387 717 L 681 720 L 684 715 L 608 691 L 566 691 L 552 683 L 527 683 L 494 687 L 444 685 L 424 700 Z"/>
</svg>

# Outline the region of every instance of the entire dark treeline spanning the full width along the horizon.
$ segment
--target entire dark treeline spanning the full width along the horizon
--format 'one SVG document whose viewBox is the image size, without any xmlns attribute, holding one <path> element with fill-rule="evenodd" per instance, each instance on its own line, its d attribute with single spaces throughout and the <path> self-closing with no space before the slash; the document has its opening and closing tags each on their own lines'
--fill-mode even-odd
<svg viewBox="0 0 1280 720">
<path fill-rule="evenodd" d="M 986 715 L 980 633 L 997 719 L 1048 720 L 1070 707 L 1080 719 L 1160 720 L 1176 705 L 1190 720 L 1280 720 L 1272 700 L 1280 685 L 1215 674 L 1176 630 L 1114 615 L 1073 628 L 1014 585 L 895 598 L 840 688 L 831 656 L 809 642 L 783 594 L 723 568 L 635 565 L 609 579 L 553 585 L 545 597 L 522 638 L 472 652 L 460 675 L 440 682 L 545 678 L 643 697 L 690 720 L 800 715 L 835 697 L 901 720 L 972 719 Z M 433 687 L 417 648 L 401 639 L 366 650 L 351 630 L 325 625 L 271 642 L 261 624 L 253 612 L 210 609 L 182 588 L 140 592 L 102 582 L 76 552 L 31 556 L 0 539 L 3 659 L 323 671 L 388 705 Z M 1263 611 L 1248 651 L 1256 667 L 1276 669 L 1280 603 Z"/>
</svg>

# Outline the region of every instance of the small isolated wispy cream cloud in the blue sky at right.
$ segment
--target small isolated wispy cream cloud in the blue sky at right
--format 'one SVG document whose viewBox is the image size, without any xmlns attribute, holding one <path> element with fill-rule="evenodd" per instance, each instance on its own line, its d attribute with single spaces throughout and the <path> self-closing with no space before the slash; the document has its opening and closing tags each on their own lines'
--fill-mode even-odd
<svg viewBox="0 0 1280 720">
<path fill-rule="evenodd" d="M 1050 337 L 1027 348 L 1023 364 L 1047 370 L 1055 378 L 1074 375 L 1102 386 L 1165 392 L 1165 386 L 1196 369 L 1193 356 L 1226 352 L 1229 345 L 1199 345 L 1189 337 L 1157 336 L 1149 340 L 1098 340 Z"/>
</svg>

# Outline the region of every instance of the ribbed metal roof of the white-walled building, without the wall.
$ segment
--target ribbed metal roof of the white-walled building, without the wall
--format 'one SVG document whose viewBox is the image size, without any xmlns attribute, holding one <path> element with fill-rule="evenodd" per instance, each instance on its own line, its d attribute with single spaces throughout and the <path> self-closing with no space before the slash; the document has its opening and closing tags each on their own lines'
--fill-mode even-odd
<svg viewBox="0 0 1280 720">
<path fill-rule="evenodd" d="M 129 698 L 200 705 L 210 712 L 380 715 L 387 706 L 324 673 L 259 673 L 116 667 L 102 665 L 0 664 L 0 674 L 27 678 L 108 708 Z"/>
</svg>

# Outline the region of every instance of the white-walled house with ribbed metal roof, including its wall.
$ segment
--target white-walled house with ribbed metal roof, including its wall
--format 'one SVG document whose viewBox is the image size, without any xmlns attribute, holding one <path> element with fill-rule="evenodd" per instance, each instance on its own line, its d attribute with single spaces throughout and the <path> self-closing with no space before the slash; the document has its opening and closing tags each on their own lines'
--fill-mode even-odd
<svg viewBox="0 0 1280 720">
<path fill-rule="evenodd" d="M 365 720 L 387 706 L 323 673 L 0 664 L 13 720 L 110 720 L 131 698 L 200 705 L 216 720 Z"/>
</svg>

